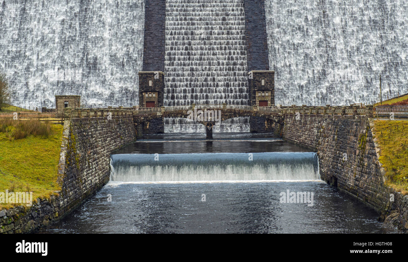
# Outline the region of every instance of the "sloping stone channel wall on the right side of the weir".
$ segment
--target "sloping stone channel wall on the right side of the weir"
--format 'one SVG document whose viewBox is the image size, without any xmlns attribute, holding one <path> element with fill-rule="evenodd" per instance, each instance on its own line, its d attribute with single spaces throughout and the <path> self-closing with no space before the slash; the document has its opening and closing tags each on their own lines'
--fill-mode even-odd
<svg viewBox="0 0 408 262">
<path fill-rule="evenodd" d="M 300 114 L 297 120 L 286 114 L 283 138 L 317 152 L 322 180 L 379 212 L 386 209 L 389 192 L 365 115 Z"/>
</svg>

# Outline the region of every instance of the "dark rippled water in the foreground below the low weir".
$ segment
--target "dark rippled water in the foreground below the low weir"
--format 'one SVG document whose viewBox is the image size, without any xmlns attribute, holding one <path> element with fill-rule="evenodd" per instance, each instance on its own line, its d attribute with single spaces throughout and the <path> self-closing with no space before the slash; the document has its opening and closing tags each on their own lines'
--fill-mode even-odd
<svg viewBox="0 0 408 262">
<path fill-rule="evenodd" d="M 287 189 L 314 205 L 280 203 Z M 377 216 L 323 182 L 119 184 L 44 233 L 391 233 Z"/>
</svg>

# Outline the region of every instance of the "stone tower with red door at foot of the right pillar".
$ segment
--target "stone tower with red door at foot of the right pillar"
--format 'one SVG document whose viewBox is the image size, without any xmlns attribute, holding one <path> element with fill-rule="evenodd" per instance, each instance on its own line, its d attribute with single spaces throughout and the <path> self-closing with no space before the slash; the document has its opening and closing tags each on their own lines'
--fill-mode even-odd
<svg viewBox="0 0 408 262">
<path fill-rule="evenodd" d="M 275 104 L 275 71 L 251 71 L 248 79 L 251 106 L 271 107 Z"/>
</svg>

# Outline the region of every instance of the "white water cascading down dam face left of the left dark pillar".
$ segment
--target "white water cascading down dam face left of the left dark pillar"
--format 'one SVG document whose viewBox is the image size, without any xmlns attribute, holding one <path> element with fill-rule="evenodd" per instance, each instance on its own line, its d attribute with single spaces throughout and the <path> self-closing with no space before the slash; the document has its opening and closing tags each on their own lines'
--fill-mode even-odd
<svg viewBox="0 0 408 262">
<path fill-rule="evenodd" d="M 11 103 L 55 107 L 133 106 L 142 70 L 144 1 L 0 0 L 0 72 Z"/>
</svg>

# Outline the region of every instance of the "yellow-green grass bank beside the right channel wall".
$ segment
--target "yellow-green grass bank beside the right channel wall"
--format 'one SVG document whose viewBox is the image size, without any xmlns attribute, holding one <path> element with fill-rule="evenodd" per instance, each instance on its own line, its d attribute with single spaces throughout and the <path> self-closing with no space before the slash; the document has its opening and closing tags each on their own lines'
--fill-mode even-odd
<svg viewBox="0 0 408 262">
<path fill-rule="evenodd" d="M 375 137 L 381 149 L 380 162 L 386 170 L 389 186 L 408 193 L 408 121 L 376 120 Z"/>
</svg>

